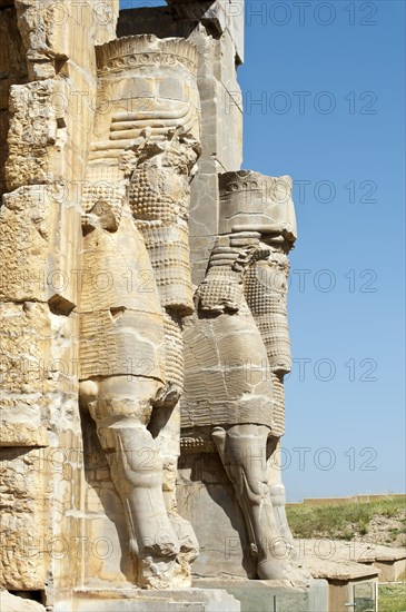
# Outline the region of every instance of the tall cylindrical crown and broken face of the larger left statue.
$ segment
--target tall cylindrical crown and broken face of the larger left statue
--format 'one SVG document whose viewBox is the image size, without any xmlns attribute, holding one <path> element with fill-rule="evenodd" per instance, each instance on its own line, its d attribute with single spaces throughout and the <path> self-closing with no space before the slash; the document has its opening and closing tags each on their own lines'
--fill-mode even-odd
<svg viewBox="0 0 406 612">
<path fill-rule="evenodd" d="M 181 38 L 121 37 L 96 49 L 99 97 L 97 147 L 115 141 L 131 160 L 154 159 L 190 171 L 199 155 L 198 52 Z M 125 151 L 127 151 L 125 154 Z"/>
</svg>

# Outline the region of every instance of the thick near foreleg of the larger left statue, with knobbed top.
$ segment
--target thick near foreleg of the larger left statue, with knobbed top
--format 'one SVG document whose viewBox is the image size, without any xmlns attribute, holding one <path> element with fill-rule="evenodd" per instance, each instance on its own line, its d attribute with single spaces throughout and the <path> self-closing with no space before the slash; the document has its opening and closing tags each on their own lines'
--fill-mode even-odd
<svg viewBox="0 0 406 612">
<path fill-rule="evenodd" d="M 122 501 L 142 585 L 165 589 L 174 585 L 180 566 L 179 541 L 162 494 L 162 457 L 147 428 L 158 388 L 154 379 L 111 376 L 86 381 L 80 392 L 96 421 Z"/>
</svg>

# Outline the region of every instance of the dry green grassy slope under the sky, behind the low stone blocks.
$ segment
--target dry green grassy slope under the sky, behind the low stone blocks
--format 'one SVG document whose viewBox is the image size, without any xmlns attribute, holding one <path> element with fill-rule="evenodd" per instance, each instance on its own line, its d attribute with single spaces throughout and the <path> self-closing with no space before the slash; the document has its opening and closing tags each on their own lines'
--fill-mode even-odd
<svg viewBox="0 0 406 612">
<path fill-rule="evenodd" d="M 404 499 L 388 496 L 374 502 L 300 504 L 288 506 L 286 512 L 295 537 L 351 540 L 356 534 L 368 534 L 369 522 L 376 514 L 394 517 L 404 509 Z M 403 524 L 400 532 L 406 534 L 406 522 Z M 397 533 L 398 530 L 392 530 L 390 539 L 395 540 Z"/>
</svg>

